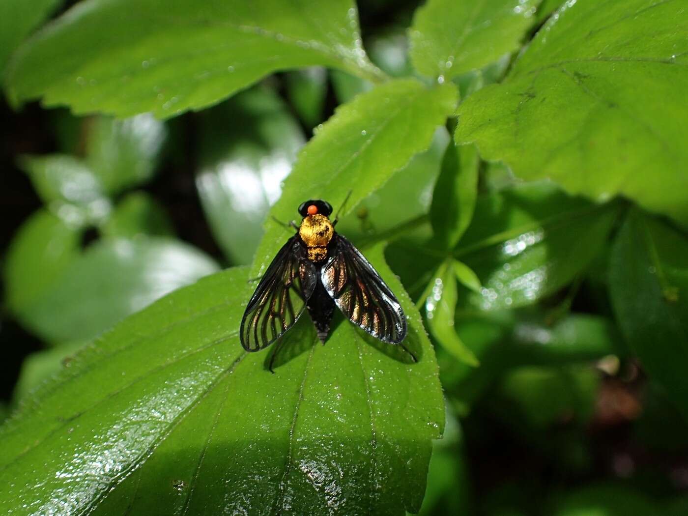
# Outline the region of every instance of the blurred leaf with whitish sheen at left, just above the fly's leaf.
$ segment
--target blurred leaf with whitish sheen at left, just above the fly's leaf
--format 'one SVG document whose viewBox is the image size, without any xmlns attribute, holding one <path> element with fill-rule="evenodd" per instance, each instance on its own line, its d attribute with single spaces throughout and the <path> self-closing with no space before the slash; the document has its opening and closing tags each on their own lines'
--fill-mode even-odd
<svg viewBox="0 0 688 516">
<path fill-rule="evenodd" d="M 21 316 L 47 341 L 87 340 L 216 270 L 200 250 L 173 239 L 103 239 L 72 260 Z"/>
</svg>

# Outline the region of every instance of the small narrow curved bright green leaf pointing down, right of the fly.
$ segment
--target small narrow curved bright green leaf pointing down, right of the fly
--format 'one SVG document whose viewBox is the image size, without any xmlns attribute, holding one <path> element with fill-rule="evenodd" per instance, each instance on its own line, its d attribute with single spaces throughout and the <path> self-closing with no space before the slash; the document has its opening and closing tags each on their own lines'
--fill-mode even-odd
<svg viewBox="0 0 688 516">
<path fill-rule="evenodd" d="M 453 260 L 444 261 L 431 284 L 432 290 L 425 301 L 425 316 L 430 333 L 453 356 L 477 367 L 477 358 L 454 329 L 457 287 Z"/>
</svg>

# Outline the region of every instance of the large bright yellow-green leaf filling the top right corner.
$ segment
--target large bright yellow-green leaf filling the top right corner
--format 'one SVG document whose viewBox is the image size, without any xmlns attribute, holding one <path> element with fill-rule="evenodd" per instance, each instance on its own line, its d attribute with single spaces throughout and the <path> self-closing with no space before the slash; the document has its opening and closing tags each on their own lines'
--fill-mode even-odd
<svg viewBox="0 0 688 516">
<path fill-rule="evenodd" d="M 462 103 L 456 141 L 519 178 L 688 224 L 687 32 L 681 2 L 567 2 L 502 84 Z"/>
</svg>

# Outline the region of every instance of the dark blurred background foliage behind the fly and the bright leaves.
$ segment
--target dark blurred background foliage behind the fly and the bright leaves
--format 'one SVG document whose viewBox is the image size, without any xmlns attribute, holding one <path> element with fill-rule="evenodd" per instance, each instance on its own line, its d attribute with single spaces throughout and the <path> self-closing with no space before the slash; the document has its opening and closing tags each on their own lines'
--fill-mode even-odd
<svg viewBox="0 0 688 516">
<path fill-rule="evenodd" d="M 4 18 L 6 41 L 72 2 L 39 3 L 19 35 Z M 539 3 L 488 65 L 466 56 L 480 69 L 447 76 L 462 98 L 502 80 L 522 32 L 532 37 L 559 3 Z M 389 76 L 416 73 L 417 7 L 359 3 L 365 48 Z M 0 418 L 125 316 L 250 264 L 299 149 L 372 87 L 306 67 L 164 122 L 3 100 Z M 359 246 L 389 241 L 387 262 L 435 345 L 447 428 L 422 513 L 687 514 L 685 227 L 517 179 L 455 144 L 453 129 L 438 128 L 338 226 Z M 652 330 L 647 314 L 660 321 Z"/>
</svg>

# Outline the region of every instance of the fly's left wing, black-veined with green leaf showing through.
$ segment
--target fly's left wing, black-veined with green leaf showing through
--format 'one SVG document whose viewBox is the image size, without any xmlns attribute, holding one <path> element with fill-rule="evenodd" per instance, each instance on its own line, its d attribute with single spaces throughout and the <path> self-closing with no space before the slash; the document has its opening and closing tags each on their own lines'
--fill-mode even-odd
<svg viewBox="0 0 688 516">
<path fill-rule="evenodd" d="M 296 323 L 317 281 L 299 237 L 291 237 L 277 253 L 248 301 L 241 319 L 241 345 L 246 351 L 269 346 Z"/>
</svg>

